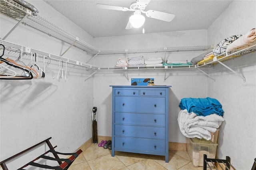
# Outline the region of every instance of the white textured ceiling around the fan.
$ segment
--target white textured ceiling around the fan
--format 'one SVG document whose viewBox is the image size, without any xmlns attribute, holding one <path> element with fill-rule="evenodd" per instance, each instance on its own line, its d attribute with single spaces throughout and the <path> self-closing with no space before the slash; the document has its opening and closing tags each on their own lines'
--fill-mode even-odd
<svg viewBox="0 0 256 170">
<path fill-rule="evenodd" d="M 99 9 L 96 4 L 130 8 L 135 0 L 44 0 L 93 37 L 141 34 L 142 27 L 125 29 L 132 11 Z M 145 33 L 207 29 L 232 0 L 151 0 L 144 11 L 174 14 L 170 21 L 148 18 Z"/>
</svg>

